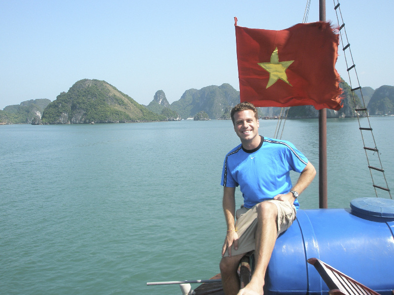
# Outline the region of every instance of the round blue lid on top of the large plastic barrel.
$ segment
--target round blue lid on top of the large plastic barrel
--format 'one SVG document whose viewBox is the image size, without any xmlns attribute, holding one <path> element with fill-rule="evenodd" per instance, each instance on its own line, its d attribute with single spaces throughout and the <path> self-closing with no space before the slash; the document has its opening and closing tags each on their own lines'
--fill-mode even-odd
<svg viewBox="0 0 394 295">
<path fill-rule="evenodd" d="M 383 198 L 358 198 L 350 202 L 352 213 L 379 217 L 394 217 L 394 200 Z M 359 214 L 357 214 L 359 213 Z"/>
</svg>

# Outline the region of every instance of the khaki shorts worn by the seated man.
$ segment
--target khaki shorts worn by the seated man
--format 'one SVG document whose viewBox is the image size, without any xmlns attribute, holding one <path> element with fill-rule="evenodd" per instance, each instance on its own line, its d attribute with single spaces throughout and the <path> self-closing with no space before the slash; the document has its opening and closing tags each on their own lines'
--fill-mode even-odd
<svg viewBox="0 0 394 295">
<path fill-rule="evenodd" d="M 296 219 L 296 207 L 287 201 L 269 200 L 276 205 L 278 209 L 277 219 L 277 236 L 286 231 Z M 257 205 L 256 205 L 257 206 Z M 256 206 L 248 209 L 241 206 L 235 212 L 236 222 L 235 229 L 238 234 L 238 249 L 231 245 L 231 256 L 247 253 L 256 249 L 256 229 L 257 229 L 257 211 Z M 229 256 L 228 250 L 224 256 Z"/>
</svg>

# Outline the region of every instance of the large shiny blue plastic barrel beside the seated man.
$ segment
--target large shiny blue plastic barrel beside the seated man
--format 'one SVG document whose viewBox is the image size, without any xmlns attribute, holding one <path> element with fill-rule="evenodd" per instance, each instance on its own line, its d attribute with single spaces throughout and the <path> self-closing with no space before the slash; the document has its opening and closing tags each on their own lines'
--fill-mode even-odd
<svg viewBox="0 0 394 295">
<path fill-rule="evenodd" d="M 269 262 L 268 294 L 327 295 L 307 263 L 318 258 L 381 295 L 394 290 L 394 200 L 359 198 L 351 209 L 297 211 L 278 237 Z"/>
</svg>

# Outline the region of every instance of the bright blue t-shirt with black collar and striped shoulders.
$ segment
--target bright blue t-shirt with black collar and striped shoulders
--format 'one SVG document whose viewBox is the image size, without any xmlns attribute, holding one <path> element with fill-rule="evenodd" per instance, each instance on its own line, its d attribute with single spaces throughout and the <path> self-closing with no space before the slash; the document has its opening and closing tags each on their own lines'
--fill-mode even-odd
<svg viewBox="0 0 394 295">
<path fill-rule="evenodd" d="M 290 171 L 301 173 L 308 159 L 288 141 L 262 137 L 254 150 L 232 149 L 223 164 L 223 186 L 240 186 L 244 206 L 251 208 L 292 188 Z M 299 203 L 294 202 L 296 209 Z"/>
</svg>

